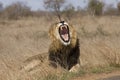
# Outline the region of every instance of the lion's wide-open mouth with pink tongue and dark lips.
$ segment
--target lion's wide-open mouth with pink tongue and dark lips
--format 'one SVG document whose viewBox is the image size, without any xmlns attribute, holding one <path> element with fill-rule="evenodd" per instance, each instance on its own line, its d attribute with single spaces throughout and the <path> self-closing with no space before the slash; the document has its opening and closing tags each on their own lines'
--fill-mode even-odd
<svg viewBox="0 0 120 80">
<path fill-rule="evenodd" d="M 59 27 L 59 34 L 60 34 L 61 39 L 64 42 L 69 42 L 70 35 L 69 35 L 69 28 L 68 28 L 68 26 L 66 26 L 66 25 L 60 26 Z"/>
</svg>

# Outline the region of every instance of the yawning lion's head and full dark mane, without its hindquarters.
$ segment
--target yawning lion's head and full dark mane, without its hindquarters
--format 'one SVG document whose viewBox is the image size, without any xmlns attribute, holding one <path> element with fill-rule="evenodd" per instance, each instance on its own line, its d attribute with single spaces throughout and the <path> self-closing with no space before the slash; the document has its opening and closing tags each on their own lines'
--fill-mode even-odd
<svg viewBox="0 0 120 80">
<path fill-rule="evenodd" d="M 72 25 L 65 21 L 53 24 L 49 29 L 49 37 L 52 41 L 48 51 L 50 65 L 71 71 L 80 64 L 79 39 Z"/>
</svg>

